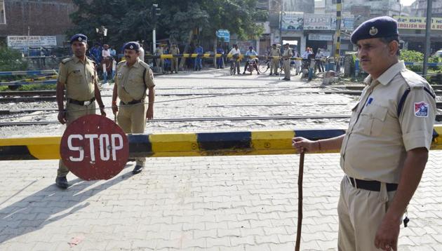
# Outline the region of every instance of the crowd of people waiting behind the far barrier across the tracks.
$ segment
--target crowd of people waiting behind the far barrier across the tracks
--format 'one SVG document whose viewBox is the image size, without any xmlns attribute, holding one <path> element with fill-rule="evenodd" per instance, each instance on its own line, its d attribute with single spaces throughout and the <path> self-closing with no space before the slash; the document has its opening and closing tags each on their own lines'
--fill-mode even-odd
<svg viewBox="0 0 442 251">
<path fill-rule="evenodd" d="M 145 62 L 145 54 L 146 52 L 149 54 L 149 50 L 145 52 L 142 47 L 142 43 L 140 43 L 140 60 Z M 154 60 L 147 60 L 147 63 L 153 67 L 154 72 L 159 73 L 175 73 L 178 74 L 180 70 L 193 70 L 193 71 L 201 71 L 203 69 L 204 53 L 212 53 L 212 51 L 206 51 L 203 49 L 201 44 L 196 43 L 194 45 L 189 44 L 187 46 L 182 47 L 185 53 L 196 54 L 196 57 L 179 57 L 181 50 L 177 43 L 161 43 L 156 46 L 153 55 L 161 56 L 161 55 L 174 55 L 174 57 L 160 57 L 155 58 Z M 228 51 L 229 53 L 226 53 Z M 107 83 L 107 81 L 114 80 L 115 77 L 115 69 L 116 64 L 121 60 L 124 60 L 123 50 L 121 53 L 117 53 L 115 46 L 109 46 L 108 44 L 103 44 L 100 46 L 99 43 L 95 43 L 92 48 L 88 50 L 87 55 L 97 63 L 98 65 L 98 74 L 101 77 L 103 83 Z M 246 74 L 248 70 L 248 66 L 251 65 L 253 69 L 256 70 L 257 74 L 260 74 L 258 70 L 259 60 L 257 57 L 250 60 L 249 57 L 246 57 L 246 60 L 239 59 L 239 55 L 241 55 L 241 49 L 234 44 L 232 48 L 229 50 L 225 50 L 221 44 L 218 44 L 216 48 L 216 53 L 220 54 L 220 57 L 217 57 L 216 67 L 217 69 L 224 69 L 226 62 L 230 62 L 230 65 L 234 68 L 234 74 L 240 74 L 241 71 L 239 69 L 241 61 L 245 62 L 242 74 Z M 284 53 L 286 53 L 286 58 L 283 58 Z M 246 56 L 258 56 L 255 48 L 253 46 L 249 46 L 248 50 L 244 53 Z M 272 47 L 267 48 L 265 55 L 272 56 L 273 58 L 270 60 L 270 74 L 276 75 L 278 69 L 295 69 L 295 75 L 300 74 L 302 72 L 302 63 L 300 60 L 288 60 L 288 57 L 302 57 L 302 59 L 307 60 L 310 58 L 314 58 L 316 60 L 316 65 L 314 67 L 314 71 L 319 70 L 319 72 L 324 72 L 323 62 L 324 59 L 330 55 L 326 49 L 319 48 L 314 54 L 313 49 L 307 47 L 304 53 L 300 55 L 297 52 L 296 46 L 281 46 L 279 44 L 274 43 Z M 284 67 L 284 62 L 288 61 L 289 67 Z M 211 61 L 213 62 L 213 61 Z M 211 63 L 210 62 L 210 63 Z M 288 72 L 284 78 L 285 80 L 290 80 L 290 72 Z"/>
</svg>

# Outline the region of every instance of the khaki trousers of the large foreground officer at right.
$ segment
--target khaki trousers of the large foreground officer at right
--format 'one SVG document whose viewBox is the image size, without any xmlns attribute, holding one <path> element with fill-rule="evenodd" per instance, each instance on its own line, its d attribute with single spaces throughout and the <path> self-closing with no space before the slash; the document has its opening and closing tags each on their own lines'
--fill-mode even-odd
<svg viewBox="0 0 442 251">
<path fill-rule="evenodd" d="M 351 186 L 347 176 L 344 176 L 337 204 L 339 217 L 337 249 L 379 251 L 375 247 L 376 231 L 394 194 L 396 191 L 387 192 L 385 183 L 381 184 L 381 191 L 356 189 Z"/>
</svg>

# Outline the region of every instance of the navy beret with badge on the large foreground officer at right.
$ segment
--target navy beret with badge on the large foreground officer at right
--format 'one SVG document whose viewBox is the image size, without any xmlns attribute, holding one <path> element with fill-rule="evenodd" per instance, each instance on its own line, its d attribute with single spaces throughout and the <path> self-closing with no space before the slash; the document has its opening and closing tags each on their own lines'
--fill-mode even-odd
<svg viewBox="0 0 442 251">
<path fill-rule="evenodd" d="M 398 22 L 387 16 L 377 17 L 359 25 L 351 34 L 351 43 L 356 43 L 361 39 L 375 39 L 387 36 L 399 36 Z"/>
</svg>

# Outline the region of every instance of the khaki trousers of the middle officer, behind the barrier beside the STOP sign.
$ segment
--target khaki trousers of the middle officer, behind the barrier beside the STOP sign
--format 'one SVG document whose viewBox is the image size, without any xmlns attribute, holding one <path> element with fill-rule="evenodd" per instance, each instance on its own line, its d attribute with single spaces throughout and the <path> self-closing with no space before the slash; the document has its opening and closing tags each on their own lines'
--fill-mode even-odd
<svg viewBox="0 0 442 251">
<path fill-rule="evenodd" d="M 124 133 L 145 133 L 146 111 L 145 100 L 138 104 L 120 104 L 116 121 Z M 144 166 L 146 158 L 136 158 L 136 161 L 137 165 Z"/>
</svg>

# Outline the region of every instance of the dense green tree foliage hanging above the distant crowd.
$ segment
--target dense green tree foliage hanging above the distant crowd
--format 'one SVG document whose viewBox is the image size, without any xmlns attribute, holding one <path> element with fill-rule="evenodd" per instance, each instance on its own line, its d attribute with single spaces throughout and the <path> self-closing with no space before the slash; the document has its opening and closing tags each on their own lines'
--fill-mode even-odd
<svg viewBox="0 0 442 251">
<path fill-rule="evenodd" d="M 215 38 L 217 29 L 229 29 L 240 39 L 255 38 L 263 27 L 255 23 L 265 19 L 267 11 L 257 9 L 257 0 L 73 0 L 78 10 L 71 14 L 76 25 L 67 33 L 87 34 L 90 41 L 101 41 L 95 28 L 107 29 L 105 42 L 122 44 L 131 40 L 152 41 L 152 4 L 159 4 L 161 16 L 156 24 L 159 39 L 170 38 L 188 43 L 192 30 L 200 38 Z"/>
</svg>

